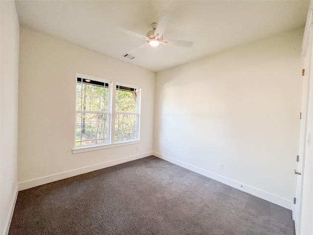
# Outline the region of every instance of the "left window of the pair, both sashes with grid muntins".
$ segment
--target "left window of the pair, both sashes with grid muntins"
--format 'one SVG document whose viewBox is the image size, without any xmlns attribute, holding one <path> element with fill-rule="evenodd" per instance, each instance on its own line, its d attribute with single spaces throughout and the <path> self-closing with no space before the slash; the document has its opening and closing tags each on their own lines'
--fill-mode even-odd
<svg viewBox="0 0 313 235">
<path fill-rule="evenodd" d="M 104 79 L 77 76 L 75 147 L 110 142 L 110 89 Z"/>
</svg>

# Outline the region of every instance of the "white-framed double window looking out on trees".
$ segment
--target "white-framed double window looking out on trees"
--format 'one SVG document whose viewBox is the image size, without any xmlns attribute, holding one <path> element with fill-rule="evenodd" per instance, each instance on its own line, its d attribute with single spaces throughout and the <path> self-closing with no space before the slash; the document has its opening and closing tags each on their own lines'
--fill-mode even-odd
<svg viewBox="0 0 313 235">
<path fill-rule="evenodd" d="M 82 74 L 76 78 L 75 148 L 139 139 L 139 87 L 117 83 L 113 97 L 111 81 Z"/>
</svg>

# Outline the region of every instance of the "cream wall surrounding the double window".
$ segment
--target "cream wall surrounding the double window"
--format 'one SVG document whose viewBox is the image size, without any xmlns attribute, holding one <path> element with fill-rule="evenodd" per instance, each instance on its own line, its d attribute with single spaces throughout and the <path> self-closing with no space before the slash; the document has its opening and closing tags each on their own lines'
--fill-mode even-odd
<svg viewBox="0 0 313 235">
<path fill-rule="evenodd" d="M 141 87 L 140 144 L 71 153 L 76 73 Z M 20 189 L 151 155 L 155 76 L 152 71 L 21 27 Z"/>
</svg>

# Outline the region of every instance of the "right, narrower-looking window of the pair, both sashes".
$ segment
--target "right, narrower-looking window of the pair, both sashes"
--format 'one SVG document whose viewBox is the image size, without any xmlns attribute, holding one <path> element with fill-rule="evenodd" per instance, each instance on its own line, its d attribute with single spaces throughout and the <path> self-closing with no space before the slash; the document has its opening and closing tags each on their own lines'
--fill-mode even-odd
<svg viewBox="0 0 313 235">
<path fill-rule="evenodd" d="M 117 83 L 115 90 L 114 141 L 138 139 L 138 90 L 137 87 Z"/>
</svg>

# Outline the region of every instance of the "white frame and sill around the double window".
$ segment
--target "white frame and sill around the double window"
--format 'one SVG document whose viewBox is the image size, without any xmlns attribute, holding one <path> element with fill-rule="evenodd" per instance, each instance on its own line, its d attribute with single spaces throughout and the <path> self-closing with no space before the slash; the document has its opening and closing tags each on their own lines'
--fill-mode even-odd
<svg viewBox="0 0 313 235">
<path fill-rule="evenodd" d="M 83 146 L 76 146 L 76 117 L 77 113 L 82 113 L 82 111 L 77 111 L 77 78 L 82 79 L 89 79 L 99 82 L 104 82 L 109 84 L 109 95 L 108 95 L 108 111 L 104 111 L 101 113 L 105 113 L 108 115 L 108 142 L 107 143 L 96 143 L 96 144 L 90 144 L 90 145 L 83 145 Z M 126 140 L 126 141 L 115 141 L 115 96 L 116 96 L 116 85 L 118 86 L 125 86 L 129 88 L 134 88 L 137 90 L 137 118 L 136 118 L 136 139 L 134 140 Z M 140 143 L 139 133 L 140 133 L 140 108 L 141 108 L 141 88 L 139 86 L 134 86 L 126 83 L 121 82 L 112 82 L 110 80 L 84 75 L 80 73 L 76 73 L 75 77 L 75 131 L 74 131 L 74 148 L 72 149 L 72 154 L 76 153 L 83 153 L 83 152 L 89 152 L 89 151 L 95 151 L 100 149 L 106 149 L 106 148 L 114 148 L 124 145 L 131 145 L 131 144 L 137 144 Z M 85 113 L 94 113 L 93 111 L 84 111 Z M 131 113 L 133 114 L 133 113 Z M 114 117 L 114 118 L 113 118 Z"/>
</svg>

